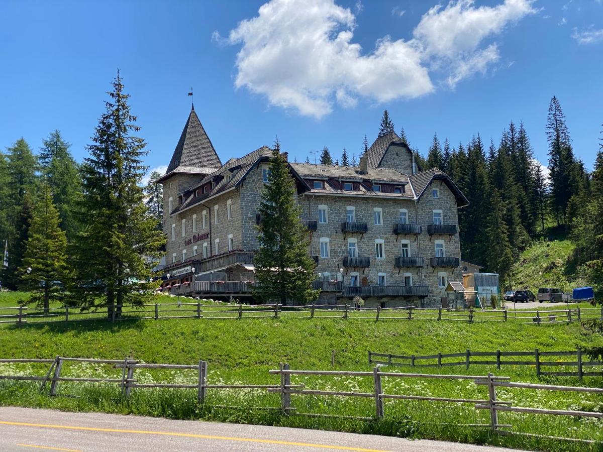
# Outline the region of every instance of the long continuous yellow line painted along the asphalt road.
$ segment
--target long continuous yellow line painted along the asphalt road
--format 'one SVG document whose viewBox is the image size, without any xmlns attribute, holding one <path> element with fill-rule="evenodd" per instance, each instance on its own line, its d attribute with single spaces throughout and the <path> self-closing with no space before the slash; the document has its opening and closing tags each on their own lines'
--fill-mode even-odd
<svg viewBox="0 0 603 452">
<path fill-rule="evenodd" d="M 84 430 L 86 432 L 111 432 L 111 433 L 134 433 L 137 435 L 164 435 L 164 436 L 182 436 L 185 438 L 201 438 L 201 439 L 219 439 L 222 441 L 242 441 L 242 442 L 259 442 L 262 444 L 280 444 L 299 447 L 314 447 L 331 450 L 347 450 L 353 452 L 388 452 L 377 449 L 365 449 L 362 447 L 336 446 L 329 444 L 313 444 L 311 442 L 293 442 L 279 441 L 276 439 L 256 439 L 256 438 L 240 438 L 236 436 L 214 436 L 214 435 L 195 435 L 194 433 L 178 433 L 178 432 L 154 432 L 153 430 L 121 430 L 119 428 L 97 428 L 97 427 L 78 427 L 74 425 L 54 425 L 54 424 L 30 424 L 30 422 L 10 422 L 0 421 L 4 425 L 18 425 L 21 427 L 42 427 L 42 428 L 60 428 L 63 430 Z"/>
</svg>

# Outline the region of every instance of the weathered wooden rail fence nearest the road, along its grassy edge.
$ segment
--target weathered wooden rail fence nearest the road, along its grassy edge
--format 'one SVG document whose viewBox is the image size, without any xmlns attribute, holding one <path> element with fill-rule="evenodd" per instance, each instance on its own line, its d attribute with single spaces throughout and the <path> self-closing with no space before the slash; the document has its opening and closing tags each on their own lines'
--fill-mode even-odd
<svg viewBox="0 0 603 452">
<path fill-rule="evenodd" d="M 80 378 L 80 377 L 62 377 L 61 371 L 63 363 L 66 362 L 90 362 L 96 364 L 110 365 L 113 368 L 121 369 L 121 378 Z M 145 388 L 174 388 L 174 389 L 194 389 L 197 391 L 198 403 L 206 402 L 206 393 L 208 389 L 261 389 L 269 393 L 280 394 L 280 407 L 254 407 L 257 409 L 272 409 L 281 410 L 284 415 L 307 415 L 307 416 L 326 416 L 326 417 L 353 417 L 356 419 L 382 419 L 386 418 L 385 404 L 386 400 L 417 400 L 452 404 L 472 404 L 476 410 L 488 410 L 490 412 L 490 422 L 487 424 L 459 424 L 466 427 L 487 427 L 493 433 L 500 435 L 528 435 L 540 436 L 544 438 L 556 438 L 545 435 L 535 435 L 528 432 L 511 432 L 505 430 L 513 428 L 511 424 L 500 424 L 498 419 L 499 412 L 515 412 L 525 413 L 528 415 L 556 415 L 556 416 L 573 416 L 574 418 L 603 418 L 603 413 L 600 412 L 585 412 L 578 410 L 561 410 L 561 409 L 541 409 L 535 407 L 520 407 L 513 406 L 511 401 L 500 400 L 496 394 L 496 388 L 514 388 L 514 389 L 529 389 L 543 391 L 564 391 L 564 392 L 581 392 L 591 394 L 603 394 L 602 388 L 584 388 L 576 386 L 555 386 L 555 385 L 537 385 L 534 383 L 515 383 L 510 381 L 510 377 L 495 376 L 492 373 L 487 375 L 437 375 L 437 374 L 413 374 L 403 372 L 384 372 L 378 367 L 374 367 L 371 371 L 331 371 L 331 370 L 297 370 L 291 369 L 288 364 L 281 363 L 279 369 L 270 370 L 269 373 L 277 375 L 279 381 L 273 385 L 211 385 L 207 383 L 207 362 L 200 360 L 198 365 L 175 365 L 175 364 L 146 364 L 139 363 L 137 360 L 125 357 L 123 360 L 101 360 L 101 359 L 83 359 L 83 358 L 68 358 L 57 356 L 55 359 L 0 359 L 0 363 L 50 363 L 51 366 L 46 372 L 46 375 L 37 376 L 17 376 L 17 375 L 0 375 L 0 380 L 29 380 L 41 381 L 40 392 L 43 391 L 47 383 L 50 384 L 49 394 L 57 395 L 57 386 L 60 381 L 72 382 L 88 382 L 88 383 L 113 383 L 119 385 L 122 390 L 122 395 L 128 397 L 132 389 L 144 390 Z M 134 371 L 136 369 L 196 369 L 198 371 L 198 379 L 194 384 L 170 384 L 170 383 L 138 383 Z M 307 389 L 305 384 L 294 385 L 291 383 L 292 375 L 318 375 L 324 377 L 327 375 L 338 377 L 362 377 L 369 378 L 372 386 L 371 392 L 355 392 L 355 391 L 326 391 L 323 389 Z M 405 379 L 439 379 L 439 380 L 470 380 L 475 385 L 485 385 L 488 387 L 488 395 L 481 399 L 462 398 L 462 397 L 432 397 L 431 395 L 406 395 L 406 394 L 390 394 L 384 391 L 382 386 L 382 378 L 405 378 Z M 397 387 L 397 386 L 396 386 Z M 329 415 L 324 413 L 302 413 L 292 406 L 291 395 L 312 397 L 316 396 L 338 396 L 352 398 L 367 398 L 374 401 L 374 412 L 371 416 L 339 416 Z M 230 407 L 234 406 L 217 406 L 213 407 Z M 574 439 L 574 438 L 557 438 L 566 439 L 569 441 L 581 441 L 594 443 L 596 441 Z"/>
</svg>

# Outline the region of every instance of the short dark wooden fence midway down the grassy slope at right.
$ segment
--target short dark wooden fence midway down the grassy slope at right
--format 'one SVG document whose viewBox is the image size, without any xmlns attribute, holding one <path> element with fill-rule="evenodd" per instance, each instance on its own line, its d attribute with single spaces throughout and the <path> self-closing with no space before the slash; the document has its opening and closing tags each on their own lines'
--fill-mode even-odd
<svg viewBox="0 0 603 452">
<path fill-rule="evenodd" d="M 551 361 L 549 357 L 555 356 L 575 356 L 573 361 Z M 377 359 L 375 359 L 377 357 Z M 494 359 L 484 359 L 493 357 Z M 525 357 L 530 360 L 508 360 L 508 357 Z M 382 358 L 386 358 L 385 360 Z M 463 358 L 456 361 L 444 361 L 450 358 Z M 476 359 L 477 358 L 477 359 Z M 544 358 L 544 359 L 543 359 Z M 434 363 L 434 360 L 437 362 Z M 426 363 L 418 363 L 418 361 L 429 361 Z M 437 353 L 425 356 L 415 355 L 396 355 L 390 353 L 375 353 L 368 352 L 368 364 L 383 364 L 388 366 L 412 366 L 412 367 L 450 367 L 450 366 L 466 366 L 469 369 L 470 365 L 496 365 L 497 369 L 501 366 L 534 366 L 536 375 L 554 375 L 557 377 L 603 377 L 603 370 L 598 372 L 584 371 L 586 367 L 603 366 L 602 361 L 584 360 L 582 350 L 578 347 L 576 350 L 570 351 L 470 351 L 469 349 L 463 353 Z M 542 371 L 541 368 L 552 367 L 576 367 L 576 371 Z"/>
</svg>

